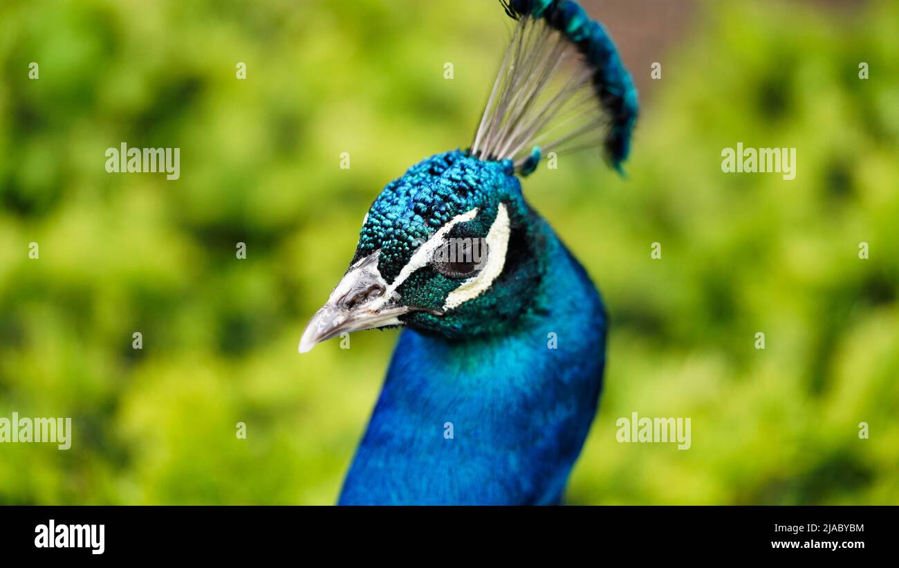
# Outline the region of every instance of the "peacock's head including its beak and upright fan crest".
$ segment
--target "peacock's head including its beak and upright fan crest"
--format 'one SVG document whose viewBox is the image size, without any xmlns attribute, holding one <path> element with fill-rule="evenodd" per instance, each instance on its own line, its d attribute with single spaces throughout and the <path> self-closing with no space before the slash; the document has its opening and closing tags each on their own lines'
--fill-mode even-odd
<svg viewBox="0 0 899 568">
<path fill-rule="evenodd" d="M 378 195 L 299 351 L 393 325 L 450 338 L 508 331 L 539 310 L 547 266 L 517 176 L 543 153 L 590 147 L 621 172 L 636 89 L 605 29 L 572 0 L 500 1 L 517 23 L 470 149 L 434 155 Z"/>
</svg>

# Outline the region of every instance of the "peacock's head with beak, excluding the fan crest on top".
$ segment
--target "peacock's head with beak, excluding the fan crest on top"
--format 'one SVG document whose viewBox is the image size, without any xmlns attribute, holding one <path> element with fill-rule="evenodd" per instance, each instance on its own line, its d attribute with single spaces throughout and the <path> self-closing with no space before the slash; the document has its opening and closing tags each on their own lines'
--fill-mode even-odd
<svg viewBox="0 0 899 568">
<path fill-rule="evenodd" d="M 372 203 L 299 351 L 376 327 L 470 337 L 514 324 L 539 285 L 533 218 L 512 161 L 456 150 L 415 164 Z"/>
</svg>

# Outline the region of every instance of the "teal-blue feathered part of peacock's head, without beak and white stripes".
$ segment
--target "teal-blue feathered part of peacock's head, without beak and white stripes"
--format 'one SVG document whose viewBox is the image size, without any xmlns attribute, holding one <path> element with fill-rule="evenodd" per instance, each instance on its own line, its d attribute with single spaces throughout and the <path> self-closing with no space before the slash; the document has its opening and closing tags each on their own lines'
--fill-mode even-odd
<svg viewBox="0 0 899 568">
<path fill-rule="evenodd" d="M 443 236 L 446 245 L 481 244 L 481 250 L 475 252 L 488 257 L 500 254 L 498 249 L 503 247 L 507 259 L 514 256 L 521 262 L 514 266 L 503 262 L 502 273 L 485 274 L 492 267 L 489 258 L 484 259 L 483 267 L 477 266 L 480 258 L 449 262 L 464 252 L 456 247 L 441 262 L 441 249 L 435 248 L 427 262 L 415 271 L 407 269 L 408 276 L 396 284 L 414 253 L 441 227 L 466 214 L 470 218 L 454 223 Z M 396 286 L 396 305 L 409 309 L 398 317 L 408 327 L 448 338 L 502 333 L 515 316 L 530 309 L 532 298 L 527 291 L 539 284 L 539 257 L 528 250 L 532 237 L 529 215 L 511 161 L 486 162 L 460 150 L 433 155 L 388 183 L 378 195 L 360 231 L 351 264 L 378 251 L 378 271 L 387 286 Z M 503 243 L 496 235 L 501 227 L 508 232 Z M 496 244 L 490 250 L 492 242 Z M 510 247 L 515 250 L 509 251 Z M 458 297 L 459 288 L 474 276 L 489 278 L 489 286 L 476 297 L 448 308 L 452 294 L 456 292 Z"/>
</svg>

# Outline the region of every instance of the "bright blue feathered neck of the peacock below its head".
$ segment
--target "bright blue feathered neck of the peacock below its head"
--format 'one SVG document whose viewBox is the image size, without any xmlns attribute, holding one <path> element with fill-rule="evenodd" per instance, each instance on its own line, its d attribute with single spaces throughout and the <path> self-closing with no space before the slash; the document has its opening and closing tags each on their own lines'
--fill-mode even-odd
<svg viewBox="0 0 899 568">
<path fill-rule="evenodd" d="M 511 333 L 405 330 L 342 503 L 551 503 L 596 411 L 601 299 L 548 226 L 539 309 Z"/>
</svg>

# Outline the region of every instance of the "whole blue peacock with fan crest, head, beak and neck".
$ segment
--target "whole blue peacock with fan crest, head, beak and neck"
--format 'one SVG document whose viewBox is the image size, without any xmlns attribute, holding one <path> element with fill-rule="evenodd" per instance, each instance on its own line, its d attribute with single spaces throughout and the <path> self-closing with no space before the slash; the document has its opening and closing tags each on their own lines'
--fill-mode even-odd
<svg viewBox="0 0 899 568">
<path fill-rule="evenodd" d="M 471 146 L 389 182 L 299 343 L 402 326 L 340 504 L 557 504 L 597 412 L 601 297 L 520 179 L 598 148 L 621 172 L 636 89 L 571 1 L 500 0 L 512 34 Z"/>
</svg>

